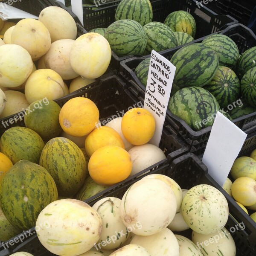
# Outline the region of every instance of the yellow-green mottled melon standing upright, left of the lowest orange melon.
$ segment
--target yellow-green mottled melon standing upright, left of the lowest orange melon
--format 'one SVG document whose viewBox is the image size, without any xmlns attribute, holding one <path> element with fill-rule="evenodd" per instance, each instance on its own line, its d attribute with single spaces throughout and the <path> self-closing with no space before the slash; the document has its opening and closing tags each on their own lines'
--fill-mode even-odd
<svg viewBox="0 0 256 256">
<path fill-rule="evenodd" d="M 71 140 L 49 140 L 40 157 L 40 165 L 52 175 L 59 195 L 73 196 L 84 183 L 87 169 L 84 154 Z"/>
</svg>

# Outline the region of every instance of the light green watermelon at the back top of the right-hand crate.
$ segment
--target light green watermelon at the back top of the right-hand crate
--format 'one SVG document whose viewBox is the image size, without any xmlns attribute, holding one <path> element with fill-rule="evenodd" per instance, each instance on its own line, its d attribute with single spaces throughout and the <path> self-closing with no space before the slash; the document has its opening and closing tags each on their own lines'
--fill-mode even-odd
<svg viewBox="0 0 256 256">
<path fill-rule="evenodd" d="M 202 44 L 211 47 L 218 55 L 221 66 L 234 69 L 239 58 L 239 49 L 236 43 L 227 35 L 213 34 L 207 36 Z"/>
</svg>

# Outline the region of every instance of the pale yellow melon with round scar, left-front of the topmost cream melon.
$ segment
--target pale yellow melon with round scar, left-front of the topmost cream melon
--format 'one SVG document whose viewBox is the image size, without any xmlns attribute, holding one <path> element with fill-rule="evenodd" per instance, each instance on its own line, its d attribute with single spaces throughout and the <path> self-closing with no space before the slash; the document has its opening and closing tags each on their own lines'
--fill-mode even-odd
<svg viewBox="0 0 256 256">
<path fill-rule="evenodd" d="M 26 18 L 20 20 L 12 30 L 12 44 L 25 48 L 32 59 L 43 56 L 51 46 L 48 29 L 38 20 Z"/>
</svg>

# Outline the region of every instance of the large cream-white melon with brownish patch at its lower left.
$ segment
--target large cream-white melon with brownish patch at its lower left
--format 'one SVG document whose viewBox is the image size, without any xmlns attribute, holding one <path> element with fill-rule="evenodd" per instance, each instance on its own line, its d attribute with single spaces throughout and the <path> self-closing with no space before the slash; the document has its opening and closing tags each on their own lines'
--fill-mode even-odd
<svg viewBox="0 0 256 256">
<path fill-rule="evenodd" d="M 150 236 L 163 230 L 175 212 L 175 194 L 162 180 L 137 181 L 128 188 L 121 201 L 122 221 L 140 236 Z"/>
</svg>

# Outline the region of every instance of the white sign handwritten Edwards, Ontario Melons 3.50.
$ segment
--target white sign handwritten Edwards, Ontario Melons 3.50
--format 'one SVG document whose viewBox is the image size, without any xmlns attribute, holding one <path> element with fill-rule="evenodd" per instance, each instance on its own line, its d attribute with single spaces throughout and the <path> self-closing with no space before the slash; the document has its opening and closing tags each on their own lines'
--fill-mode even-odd
<svg viewBox="0 0 256 256">
<path fill-rule="evenodd" d="M 176 67 L 169 60 L 152 50 L 144 108 L 153 114 L 156 121 L 154 137 L 149 141 L 156 146 L 161 140 L 175 70 Z"/>
</svg>

